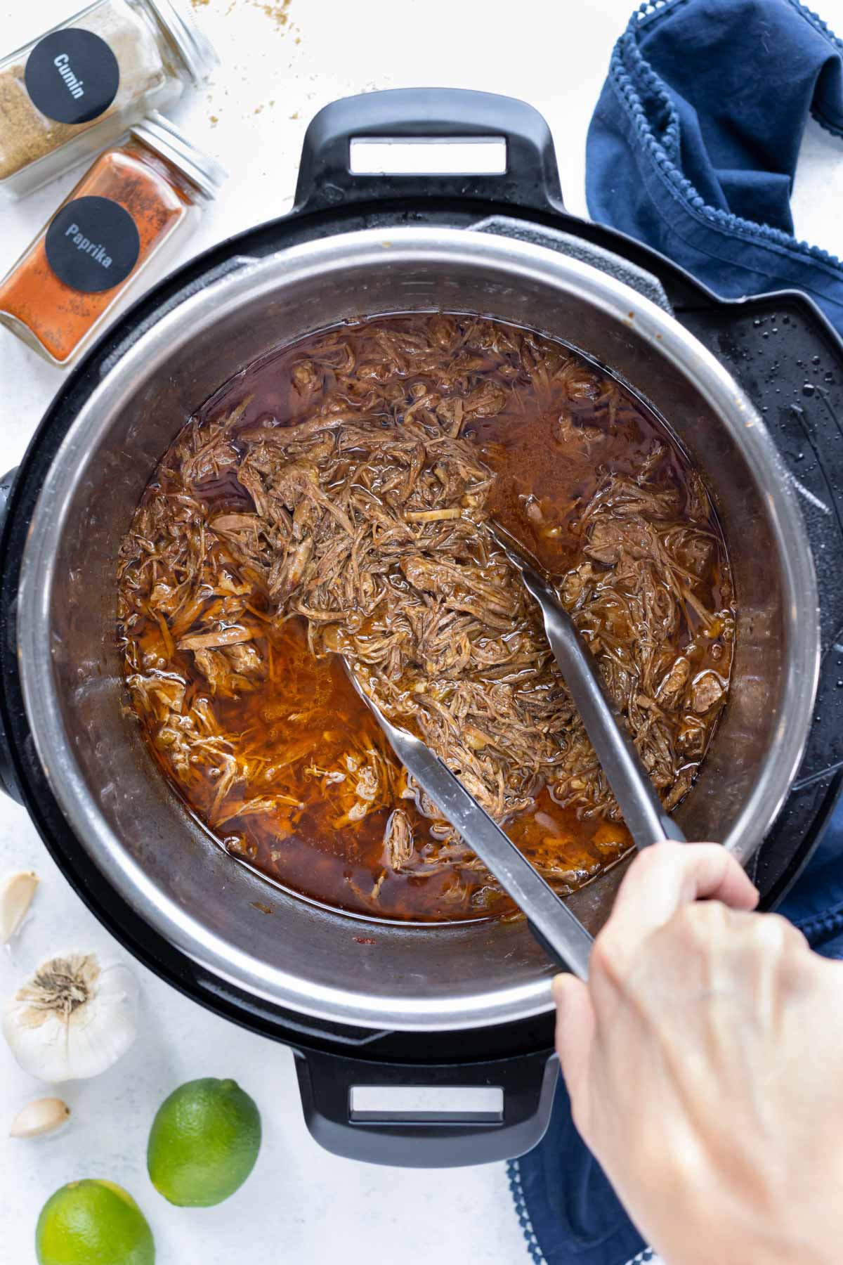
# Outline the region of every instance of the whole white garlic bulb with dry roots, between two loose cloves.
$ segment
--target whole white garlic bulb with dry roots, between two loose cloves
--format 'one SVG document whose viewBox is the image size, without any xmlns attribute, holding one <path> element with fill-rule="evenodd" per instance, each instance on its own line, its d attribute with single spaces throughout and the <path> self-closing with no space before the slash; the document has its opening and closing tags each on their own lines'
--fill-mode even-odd
<svg viewBox="0 0 843 1265">
<path fill-rule="evenodd" d="M 105 1071 L 135 1039 L 138 989 L 121 963 L 64 954 L 43 963 L 14 998 L 3 1034 L 15 1059 L 40 1080 Z"/>
</svg>

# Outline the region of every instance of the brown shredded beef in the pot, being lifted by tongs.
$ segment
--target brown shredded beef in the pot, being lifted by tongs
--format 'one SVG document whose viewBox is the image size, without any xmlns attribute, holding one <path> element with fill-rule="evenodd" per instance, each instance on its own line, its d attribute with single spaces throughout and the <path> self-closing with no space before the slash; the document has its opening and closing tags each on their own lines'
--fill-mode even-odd
<svg viewBox="0 0 843 1265">
<path fill-rule="evenodd" d="M 445 316 L 430 319 L 426 339 L 384 326 L 379 355 L 363 362 L 341 330 L 324 335 L 291 376 L 303 420 L 244 425 L 245 401 L 222 420 L 188 424 L 135 514 L 120 563 L 128 682 L 177 777 L 191 762 L 219 770 L 214 827 L 273 811 L 209 698 L 259 689 L 267 622 L 292 616 L 307 621 L 316 657 L 344 655 L 383 711 L 498 821 L 535 805 L 543 787 L 580 815 L 619 820 L 538 612 L 488 530 L 497 474 L 466 435 L 517 390 L 504 373 L 476 381 L 482 353 L 504 336 L 549 391 L 562 382 L 574 404 L 602 406 L 603 388 L 535 335 L 488 321 L 460 329 Z M 607 398 L 608 425 L 613 409 Z M 591 441 L 567 412 L 555 436 L 580 452 Z M 718 548 L 705 490 L 696 482 L 680 503 L 653 479 L 657 448 L 634 473 L 607 471 L 578 507 L 579 557 L 557 579 L 670 808 L 693 782 L 728 688 L 728 658 L 722 672 L 694 674 L 694 648 L 705 638 L 729 643 L 732 631 L 728 603 L 709 610 L 699 592 Z M 240 503 L 219 512 L 210 492 L 233 477 Z M 547 529 L 538 501 L 526 517 Z M 159 654 L 142 657 L 139 614 L 158 622 Z M 187 697 L 168 677 L 183 651 L 206 686 Z M 382 754 L 353 759 L 318 777 L 326 793 L 343 784 L 345 824 L 392 806 L 389 870 L 476 868 L 436 806 L 396 779 Z M 399 806 L 411 796 L 439 822 L 435 856 L 416 848 Z M 554 872 L 552 858 L 545 868 Z M 367 899 L 377 904 L 377 891 Z"/>
</svg>

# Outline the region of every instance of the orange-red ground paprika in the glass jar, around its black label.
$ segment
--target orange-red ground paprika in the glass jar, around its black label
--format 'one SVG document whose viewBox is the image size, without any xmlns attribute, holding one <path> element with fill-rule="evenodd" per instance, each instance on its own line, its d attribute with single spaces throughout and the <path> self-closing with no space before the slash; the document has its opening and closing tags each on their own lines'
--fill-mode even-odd
<svg viewBox="0 0 843 1265">
<path fill-rule="evenodd" d="M 101 154 L 62 206 L 91 195 L 118 202 L 138 228 L 138 262 L 120 285 L 96 293 L 66 286 L 47 262 L 47 228 L 0 285 L 0 319 L 59 364 L 70 359 L 106 309 L 131 285 L 193 201 L 188 187 L 176 183 L 167 163 L 133 139 Z"/>
</svg>

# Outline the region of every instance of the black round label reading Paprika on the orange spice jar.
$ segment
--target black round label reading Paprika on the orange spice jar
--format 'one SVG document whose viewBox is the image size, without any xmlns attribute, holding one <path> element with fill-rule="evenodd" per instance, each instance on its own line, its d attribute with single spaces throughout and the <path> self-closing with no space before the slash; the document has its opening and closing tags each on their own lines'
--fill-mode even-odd
<svg viewBox="0 0 843 1265">
<path fill-rule="evenodd" d="M 75 197 L 53 216 L 44 238 L 47 262 L 73 290 L 111 290 L 140 254 L 138 225 L 110 197 Z"/>
</svg>

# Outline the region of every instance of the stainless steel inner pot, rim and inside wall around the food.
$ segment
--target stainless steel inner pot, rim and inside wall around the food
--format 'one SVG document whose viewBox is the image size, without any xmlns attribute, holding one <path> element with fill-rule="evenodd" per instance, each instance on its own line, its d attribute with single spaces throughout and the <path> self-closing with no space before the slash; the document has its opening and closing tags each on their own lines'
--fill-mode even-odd
<svg viewBox="0 0 843 1265">
<path fill-rule="evenodd" d="M 681 325 L 597 268 L 484 233 L 370 230 L 245 259 L 162 316 L 81 409 L 33 517 L 19 645 L 38 753 L 81 846 L 161 935 L 248 992 L 378 1028 L 536 1015 L 551 1007 L 552 968 L 523 926 L 373 929 L 276 891 L 225 855 L 166 784 L 128 716 L 115 565 L 155 462 L 227 378 L 343 318 L 431 309 L 495 316 L 583 348 L 655 405 L 708 479 L 739 617 L 729 705 L 676 813 L 690 839 L 752 855 L 796 772 L 819 663 L 811 555 L 761 419 Z M 573 898 L 593 931 L 622 869 Z"/>
</svg>

